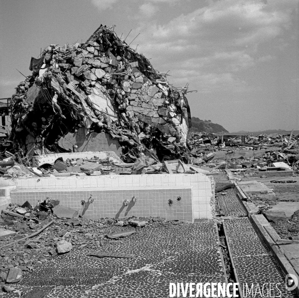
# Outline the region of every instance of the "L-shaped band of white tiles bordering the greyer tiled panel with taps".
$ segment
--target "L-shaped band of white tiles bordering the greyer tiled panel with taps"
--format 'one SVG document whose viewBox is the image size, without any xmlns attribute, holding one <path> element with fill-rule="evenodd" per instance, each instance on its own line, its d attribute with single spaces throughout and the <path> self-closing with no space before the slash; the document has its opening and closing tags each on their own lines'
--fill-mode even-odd
<svg viewBox="0 0 299 298">
<path fill-rule="evenodd" d="M 40 179 L 38 182 L 37 180 Z M 211 198 L 214 185 L 210 176 L 197 174 L 153 174 L 153 175 L 111 175 L 111 176 L 71 176 L 55 178 L 15 179 L 18 189 L 48 188 L 132 188 L 132 187 L 188 187 L 192 186 L 194 218 L 212 218 Z"/>
</svg>

